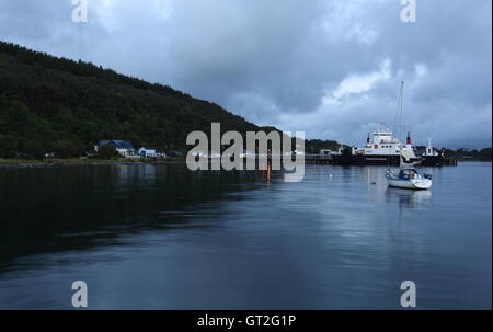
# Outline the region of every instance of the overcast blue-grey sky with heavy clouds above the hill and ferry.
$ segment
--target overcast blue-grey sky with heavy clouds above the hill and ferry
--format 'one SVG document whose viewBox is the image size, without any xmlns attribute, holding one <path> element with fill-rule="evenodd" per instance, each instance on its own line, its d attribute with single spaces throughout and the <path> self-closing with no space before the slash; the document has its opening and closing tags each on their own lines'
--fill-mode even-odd
<svg viewBox="0 0 493 332">
<path fill-rule="evenodd" d="M 257 125 L 364 142 L 405 81 L 416 144 L 491 146 L 492 1 L 0 0 L 0 39 L 216 102 Z"/>
</svg>

